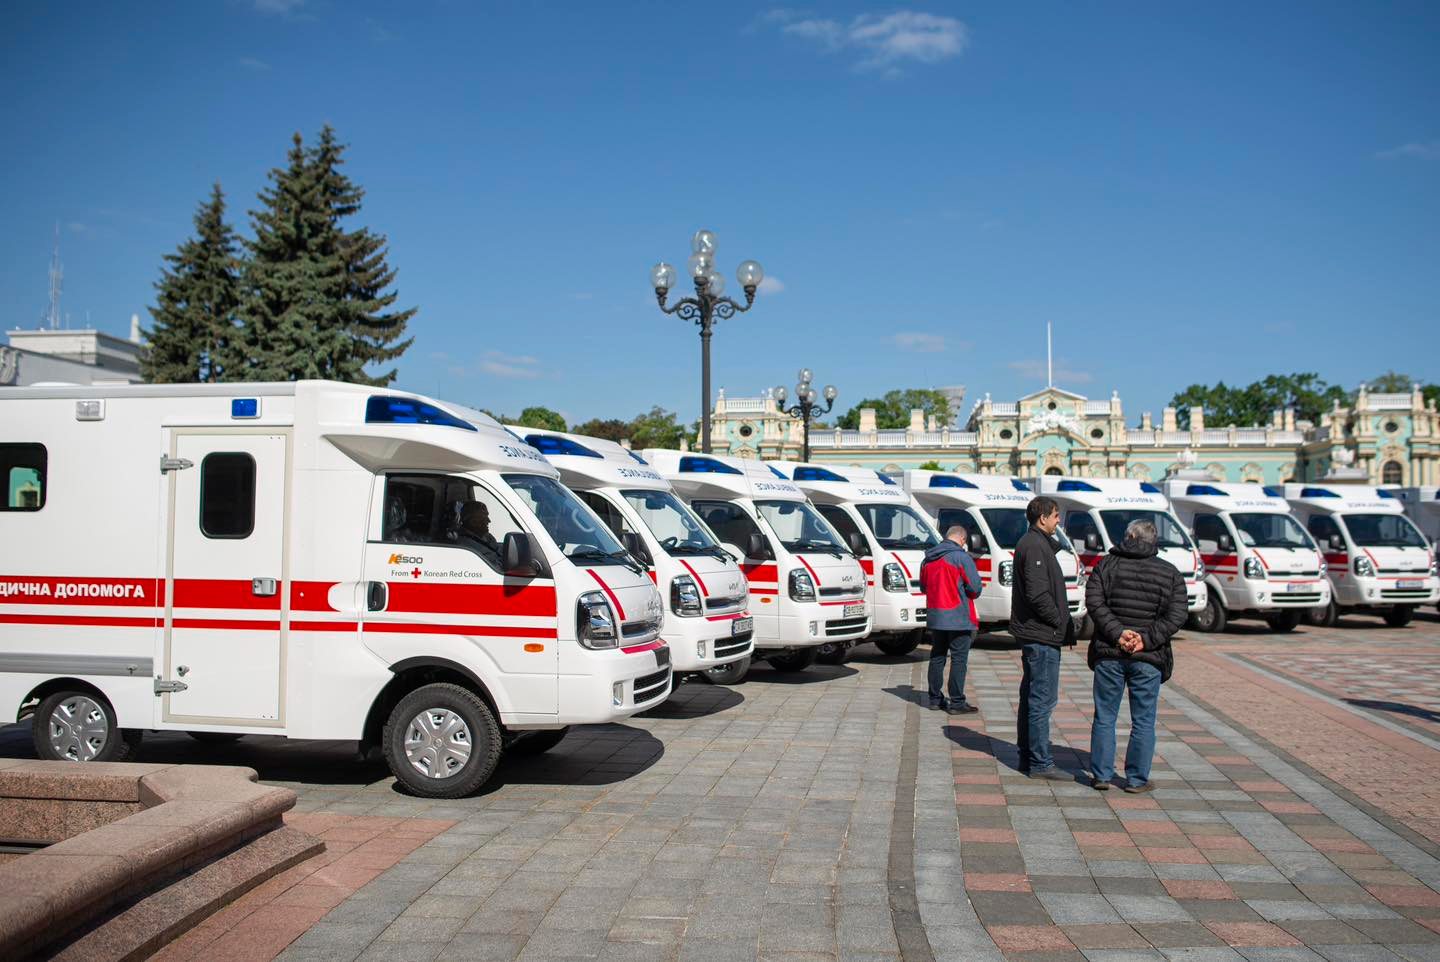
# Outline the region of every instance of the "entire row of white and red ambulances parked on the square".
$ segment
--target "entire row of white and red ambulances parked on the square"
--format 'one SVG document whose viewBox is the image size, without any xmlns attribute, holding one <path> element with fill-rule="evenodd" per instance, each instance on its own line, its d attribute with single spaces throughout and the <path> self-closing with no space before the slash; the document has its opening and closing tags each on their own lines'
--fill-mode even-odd
<svg viewBox="0 0 1440 962">
<path fill-rule="evenodd" d="M 154 730 L 354 739 L 436 798 L 677 677 L 798 671 L 867 638 L 912 651 L 920 562 L 952 526 L 1002 625 L 1035 494 L 636 452 L 333 382 L 37 386 L 0 412 L 0 710 L 42 758 L 118 760 Z M 1077 624 L 1084 572 L 1138 518 L 1208 626 L 1436 599 L 1398 500 L 1166 485 L 1037 480 Z"/>
</svg>

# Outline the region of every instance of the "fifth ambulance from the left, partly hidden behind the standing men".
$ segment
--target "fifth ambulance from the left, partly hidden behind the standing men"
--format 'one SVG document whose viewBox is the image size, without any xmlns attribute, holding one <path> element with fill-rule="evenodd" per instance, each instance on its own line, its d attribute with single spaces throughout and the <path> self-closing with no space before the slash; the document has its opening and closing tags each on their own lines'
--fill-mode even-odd
<svg viewBox="0 0 1440 962">
<path fill-rule="evenodd" d="M 984 590 L 975 599 L 975 613 L 982 631 L 998 631 L 1009 624 L 1009 602 L 1015 588 L 1015 546 L 1030 530 L 1025 505 L 1035 493 L 1020 478 L 999 474 L 952 474 L 945 471 L 903 471 L 896 475 L 916 503 L 935 518 L 943 534 L 959 524 L 966 531 L 971 556 L 979 569 Z M 1084 618 L 1084 582 L 1080 559 L 1063 530 L 1057 529 L 1061 550 L 1056 554 L 1066 577 L 1066 602 L 1076 626 Z"/>
</svg>

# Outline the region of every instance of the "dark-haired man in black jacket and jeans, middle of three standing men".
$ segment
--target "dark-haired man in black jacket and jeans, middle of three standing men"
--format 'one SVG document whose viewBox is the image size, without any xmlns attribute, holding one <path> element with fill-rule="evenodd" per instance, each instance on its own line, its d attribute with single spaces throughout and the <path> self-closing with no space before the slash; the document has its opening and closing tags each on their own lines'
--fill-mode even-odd
<svg viewBox="0 0 1440 962">
<path fill-rule="evenodd" d="M 1009 602 L 1009 634 L 1021 644 L 1015 746 L 1020 770 L 1030 778 L 1071 781 L 1050 755 L 1050 713 L 1060 700 L 1060 649 L 1076 644 L 1066 576 L 1056 560 L 1060 505 L 1054 498 L 1034 498 L 1025 505 L 1025 518 L 1030 530 L 1015 546 Z"/>
</svg>

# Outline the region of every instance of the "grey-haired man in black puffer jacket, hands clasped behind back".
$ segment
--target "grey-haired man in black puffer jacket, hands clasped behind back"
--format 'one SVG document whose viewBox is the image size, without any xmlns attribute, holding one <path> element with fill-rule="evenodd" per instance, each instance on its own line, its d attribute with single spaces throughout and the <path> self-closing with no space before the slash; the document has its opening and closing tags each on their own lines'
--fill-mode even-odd
<svg viewBox="0 0 1440 962">
<path fill-rule="evenodd" d="M 1090 670 L 1094 722 L 1090 726 L 1092 785 L 1115 778 L 1115 716 L 1130 693 L 1130 746 L 1125 750 L 1125 791 L 1151 791 L 1155 710 L 1161 683 L 1175 668 L 1171 637 L 1185 624 L 1185 580 L 1156 554 L 1155 523 L 1130 521 L 1125 540 L 1094 567 L 1084 601 L 1094 621 Z"/>
</svg>

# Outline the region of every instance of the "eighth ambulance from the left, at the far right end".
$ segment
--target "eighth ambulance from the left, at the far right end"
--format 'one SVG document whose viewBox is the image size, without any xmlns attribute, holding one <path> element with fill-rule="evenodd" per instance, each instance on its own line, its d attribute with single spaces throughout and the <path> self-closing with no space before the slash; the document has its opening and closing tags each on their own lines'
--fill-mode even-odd
<svg viewBox="0 0 1440 962">
<path fill-rule="evenodd" d="M 1286 484 L 1284 497 L 1325 552 L 1331 603 L 1318 624 L 1368 611 L 1398 628 L 1440 599 L 1434 552 L 1394 490 L 1310 481 Z"/>
</svg>

